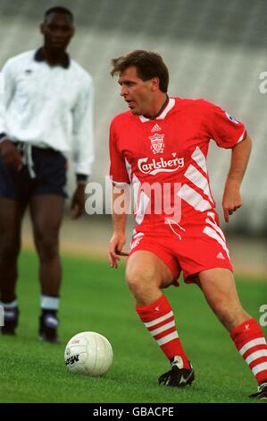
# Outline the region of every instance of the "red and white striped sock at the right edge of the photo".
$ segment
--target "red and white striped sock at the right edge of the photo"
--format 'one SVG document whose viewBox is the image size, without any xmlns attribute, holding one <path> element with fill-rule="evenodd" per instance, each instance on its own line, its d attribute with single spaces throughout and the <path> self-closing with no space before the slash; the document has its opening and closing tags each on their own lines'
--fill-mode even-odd
<svg viewBox="0 0 267 421">
<path fill-rule="evenodd" d="M 267 345 L 255 319 L 246 320 L 230 333 L 239 353 L 259 384 L 267 382 Z"/>
</svg>

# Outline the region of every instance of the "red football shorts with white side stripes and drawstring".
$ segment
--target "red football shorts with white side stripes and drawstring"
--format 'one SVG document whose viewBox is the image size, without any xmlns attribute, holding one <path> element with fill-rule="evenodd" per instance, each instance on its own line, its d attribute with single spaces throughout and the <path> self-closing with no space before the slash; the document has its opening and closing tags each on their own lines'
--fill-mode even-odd
<svg viewBox="0 0 267 421">
<path fill-rule="evenodd" d="M 182 226 L 172 222 L 149 232 L 142 227 L 136 228 L 129 255 L 141 250 L 159 257 L 170 268 L 175 281 L 181 271 L 187 283 L 195 282 L 195 275 L 207 269 L 233 271 L 225 237 L 214 211 L 205 212 Z"/>
</svg>

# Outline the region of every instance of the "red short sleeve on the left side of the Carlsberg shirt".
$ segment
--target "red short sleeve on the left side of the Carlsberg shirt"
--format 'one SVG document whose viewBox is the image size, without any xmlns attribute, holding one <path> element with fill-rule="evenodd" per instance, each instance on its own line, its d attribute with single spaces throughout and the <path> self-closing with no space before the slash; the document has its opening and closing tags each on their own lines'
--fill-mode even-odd
<svg viewBox="0 0 267 421">
<path fill-rule="evenodd" d="M 129 176 L 125 165 L 125 159 L 119 150 L 118 135 L 114 123 L 110 127 L 110 176 L 113 185 L 123 186 L 129 184 Z"/>
</svg>

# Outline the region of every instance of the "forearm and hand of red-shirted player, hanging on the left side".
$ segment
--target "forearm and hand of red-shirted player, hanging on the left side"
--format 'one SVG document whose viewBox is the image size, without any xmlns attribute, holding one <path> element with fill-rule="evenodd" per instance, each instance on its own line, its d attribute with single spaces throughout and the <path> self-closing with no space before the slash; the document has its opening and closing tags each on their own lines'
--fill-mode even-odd
<svg viewBox="0 0 267 421">
<path fill-rule="evenodd" d="M 113 236 L 109 244 L 108 252 L 109 262 L 112 268 L 118 267 L 118 262 L 120 261 L 120 254 L 118 252 L 121 252 L 126 241 L 125 228 L 128 216 L 128 207 L 127 203 L 125 203 L 126 200 L 125 190 L 118 190 L 118 188 L 113 187 Z M 118 206 L 116 206 L 119 202 L 120 212 Z"/>
</svg>

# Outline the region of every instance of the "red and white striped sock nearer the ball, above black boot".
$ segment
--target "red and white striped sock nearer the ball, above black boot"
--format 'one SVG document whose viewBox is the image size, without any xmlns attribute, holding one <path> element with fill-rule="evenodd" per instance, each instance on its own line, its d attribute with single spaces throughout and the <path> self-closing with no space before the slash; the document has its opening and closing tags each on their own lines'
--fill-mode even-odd
<svg viewBox="0 0 267 421">
<path fill-rule="evenodd" d="M 176 331 L 171 305 L 165 296 L 161 296 L 155 303 L 144 306 L 136 306 L 136 310 L 142 322 L 163 353 L 171 360 L 174 356 L 179 356 L 183 360 L 184 368 L 190 368 L 188 357 L 186 356 L 179 336 Z"/>
</svg>

